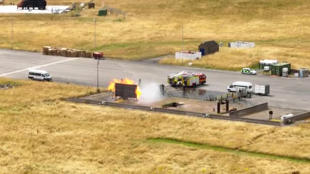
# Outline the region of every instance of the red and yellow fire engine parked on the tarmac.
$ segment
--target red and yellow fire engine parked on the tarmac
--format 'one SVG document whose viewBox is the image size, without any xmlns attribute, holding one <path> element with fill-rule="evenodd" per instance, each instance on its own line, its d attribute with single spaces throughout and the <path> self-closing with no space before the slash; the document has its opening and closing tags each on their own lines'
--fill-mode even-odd
<svg viewBox="0 0 310 174">
<path fill-rule="evenodd" d="M 176 85 L 196 86 L 199 84 L 204 84 L 205 81 L 206 81 L 205 74 L 190 73 L 187 71 L 170 74 L 168 75 L 168 79 L 167 79 L 168 84 L 172 86 L 176 86 Z"/>
</svg>

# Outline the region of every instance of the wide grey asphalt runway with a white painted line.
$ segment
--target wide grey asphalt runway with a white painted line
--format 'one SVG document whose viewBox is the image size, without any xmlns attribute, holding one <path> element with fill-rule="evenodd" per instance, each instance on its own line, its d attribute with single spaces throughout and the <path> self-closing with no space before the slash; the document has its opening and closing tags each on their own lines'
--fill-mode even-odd
<svg viewBox="0 0 310 174">
<path fill-rule="evenodd" d="M 57 82 L 70 82 L 83 85 L 97 85 L 97 61 L 87 58 L 74 58 L 42 55 L 40 53 L 0 49 L 0 77 L 28 79 L 28 69 L 46 70 Z M 206 70 L 190 67 L 158 65 L 157 60 L 117 61 L 102 60 L 98 65 L 99 86 L 107 86 L 113 78 L 130 78 L 141 83 L 166 84 L 167 75 L 180 71 L 206 74 L 206 85 L 199 88 L 207 91 L 227 92 L 227 86 L 235 81 L 248 81 L 252 84 L 270 84 L 269 96 L 254 96 L 249 104 L 268 102 L 269 106 L 289 109 L 310 110 L 310 79 L 282 78 L 263 75 L 244 75 L 239 72 Z"/>
</svg>

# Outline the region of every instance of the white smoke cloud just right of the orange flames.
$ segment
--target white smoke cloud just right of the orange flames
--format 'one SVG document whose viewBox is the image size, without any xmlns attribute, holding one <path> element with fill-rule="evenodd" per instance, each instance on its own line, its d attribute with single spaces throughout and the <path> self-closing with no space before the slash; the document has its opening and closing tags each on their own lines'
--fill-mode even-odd
<svg viewBox="0 0 310 174">
<path fill-rule="evenodd" d="M 139 98 L 140 102 L 151 103 L 157 102 L 162 99 L 162 94 L 160 90 L 160 85 L 157 83 L 148 83 L 140 86 L 141 96 Z"/>
</svg>

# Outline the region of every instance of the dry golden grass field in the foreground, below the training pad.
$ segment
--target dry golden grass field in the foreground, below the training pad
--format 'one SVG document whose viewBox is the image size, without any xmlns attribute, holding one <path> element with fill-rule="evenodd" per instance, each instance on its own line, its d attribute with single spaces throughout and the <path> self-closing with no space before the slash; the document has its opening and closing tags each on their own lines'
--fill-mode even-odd
<svg viewBox="0 0 310 174">
<path fill-rule="evenodd" d="M 271 127 L 64 101 L 71 84 L 0 78 L 0 173 L 310 171 L 309 124 Z"/>
</svg>

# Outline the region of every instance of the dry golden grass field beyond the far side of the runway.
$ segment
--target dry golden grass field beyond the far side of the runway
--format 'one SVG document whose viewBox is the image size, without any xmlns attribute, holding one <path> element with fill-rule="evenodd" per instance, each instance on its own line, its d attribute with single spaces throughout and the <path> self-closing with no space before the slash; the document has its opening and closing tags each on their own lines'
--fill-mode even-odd
<svg viewBox="0 0 310 174">
<path fill-rule="evenodd" d="M 10 2 L 10 1 L 9 1 Z M 18 1 L 12 1 L 13 3 Z M 206 56 L 194 66 L 239 70 L 261 59 L 289 61 L 293 68 L 310 68 L 310 2 L 305 0 L 209 0 L 209 1 L 112 1 L 105 4 L 126 12 L 98 17 L 96 9 L 59 15 L 14 14 L 14 49 L 40 51 L 44 45 L 94 50 L 94 22 L 97 22 L 97 48 L 110 57 L 145 59 L 174 54 L 181 49 L 184 26 L 185 50 L 197 50 L 206 40 L 252 41 L 256 48 Z M 49 5 L 71 4 L 50 0 Z M 79 4 L 79 3 L 77 3 Z M 0 14 L 0 47 L 11 48 L 10 14 Z M 172 59 L 163 64 L 180 65 Z M 240 64 L 242 63 L 242 64 Z"/>
</svg>

